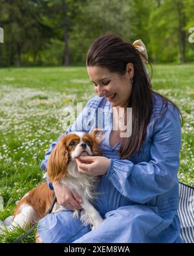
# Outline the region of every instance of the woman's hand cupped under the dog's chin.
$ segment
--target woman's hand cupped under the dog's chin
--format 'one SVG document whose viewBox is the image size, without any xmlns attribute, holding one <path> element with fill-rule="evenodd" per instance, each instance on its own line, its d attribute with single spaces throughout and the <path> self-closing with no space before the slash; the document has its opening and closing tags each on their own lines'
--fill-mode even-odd
<svg viewBox="0 0 194 256">
<path fill-rule="evenodd" d="M 111 159 L 104 156 L 80 156 L 76 159 L 78 172 L 89 176 L 100 176 L 109 169 Z"/>
</svg>

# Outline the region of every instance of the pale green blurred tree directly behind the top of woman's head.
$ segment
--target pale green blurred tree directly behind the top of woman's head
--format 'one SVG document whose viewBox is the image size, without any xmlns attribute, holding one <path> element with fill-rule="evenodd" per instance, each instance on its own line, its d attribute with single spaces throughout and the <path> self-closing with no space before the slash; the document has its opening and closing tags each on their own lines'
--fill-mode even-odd
<svg viewBox="0 0 194 256">
<path fill-rule="evenodd" d="M 70 32 L 74 62 L 84 64 L 89 45 L 102 34 L 118 34 L 127 41 L 135 36 L 131 29 L 131 0 L 87 0 L 85 5 L 78 6 L 78 14 Z"/>
</svg>

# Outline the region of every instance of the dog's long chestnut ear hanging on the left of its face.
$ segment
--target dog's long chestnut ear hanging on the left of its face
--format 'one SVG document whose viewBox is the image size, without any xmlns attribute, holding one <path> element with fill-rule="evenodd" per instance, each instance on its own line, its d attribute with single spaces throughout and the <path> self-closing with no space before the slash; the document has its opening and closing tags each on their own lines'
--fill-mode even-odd
<svg viewBox="0 0 194 256">
<path fill-rule="evenodd" d="M 58 181 L 67 175 L 68 151 L 65 141 L 61 139 L 52 150 L 47 163 L 47 174 L 50 182 Z"/>
</svg>

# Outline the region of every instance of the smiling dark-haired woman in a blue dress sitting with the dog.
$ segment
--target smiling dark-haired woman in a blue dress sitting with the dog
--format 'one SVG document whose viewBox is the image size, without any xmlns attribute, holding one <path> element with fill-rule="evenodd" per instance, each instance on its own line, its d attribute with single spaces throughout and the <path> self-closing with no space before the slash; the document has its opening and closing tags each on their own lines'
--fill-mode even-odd
<svg viewBox="0 0 194 256">
<path fill-rule="evenodd" d="M 98 127 L 98 119 L 103 119 L 103 156 L 85 156 L 77 163 L 79 172 L 101 176 L 94 206 L 105 220 L 92 231 L 83 226 L 72 218 L 72 211 L 81 209 L 81 198 L 60 183 L 48 181 L 67 211 L 48 215 L 39 222 L 39 240 L 182 242 L 177 214 L 180 111 L 152 91 L 144 62 L 147 52 L 141 40 L 132 45 L 108 34 L 92 43 L 86 65 L 98 96 L 89 100 L 66 134 L 80 125 L 83 131 L 91 132 Z M 120 108 L 124 114 L 116 115 L 115 110 L 120 112 Z M 130 135 L 122 137 L 124 126 L 129 125 L 129 108 L 132 129 Z M 103 110 L 102 114 L 98 110 Z M 113 124 L 118 124 L 118 129 L 113 129 Z M 42 169 L 59 139 L 46 153 Z"/>
</svg>

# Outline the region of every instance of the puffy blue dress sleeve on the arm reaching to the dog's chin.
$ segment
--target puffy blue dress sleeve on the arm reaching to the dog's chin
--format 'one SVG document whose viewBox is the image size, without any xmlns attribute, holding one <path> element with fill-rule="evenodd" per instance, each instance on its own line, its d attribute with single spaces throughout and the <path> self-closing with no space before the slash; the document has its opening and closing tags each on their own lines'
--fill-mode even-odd
<svg viewBox="0 0 194 256">
<path fill-rule="evenodd" d="M 165 115 L 155 118 L 155 125 L 150 124 L 148 128 L 152 139 L 151 160 L 135 165 L 127 159 L 111 159 L 106 174 L 123 196 L 140 204 L 169 191 L 177 182 L 181 144 L 178 110 L 167 110 Z"/>
</svg>

